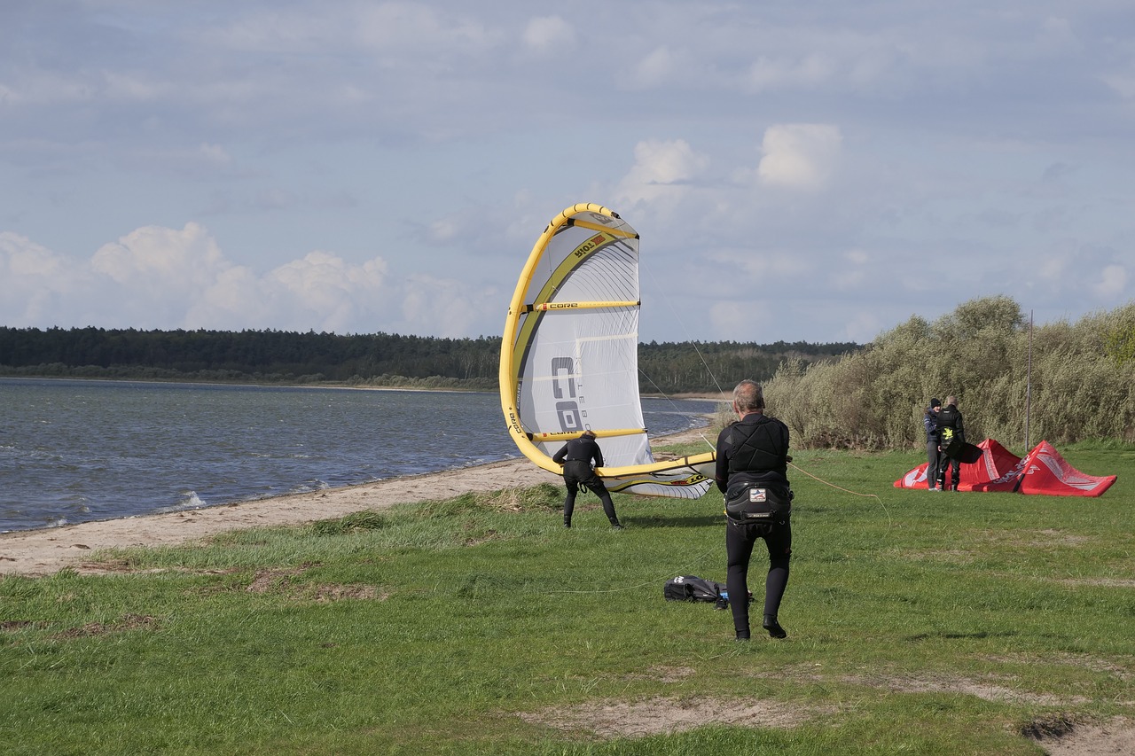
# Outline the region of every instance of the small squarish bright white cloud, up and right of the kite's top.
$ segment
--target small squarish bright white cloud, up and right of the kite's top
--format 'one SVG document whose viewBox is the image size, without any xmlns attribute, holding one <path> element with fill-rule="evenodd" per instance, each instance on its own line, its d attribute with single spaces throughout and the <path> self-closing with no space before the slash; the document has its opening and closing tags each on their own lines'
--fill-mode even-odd
<svg viewBox="0 0 1135 756">
<path fill-rule="evenodd" d="M 760 182 L 799 190 L 823 188 L 831 178 L 843 136 L 838 126 L 783 124 L 765 129 Z"/>
</svg>

